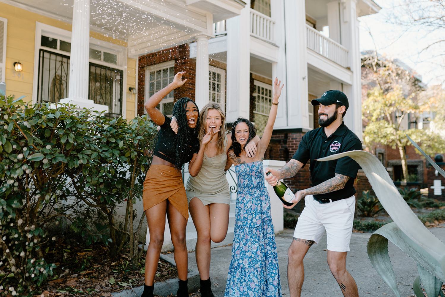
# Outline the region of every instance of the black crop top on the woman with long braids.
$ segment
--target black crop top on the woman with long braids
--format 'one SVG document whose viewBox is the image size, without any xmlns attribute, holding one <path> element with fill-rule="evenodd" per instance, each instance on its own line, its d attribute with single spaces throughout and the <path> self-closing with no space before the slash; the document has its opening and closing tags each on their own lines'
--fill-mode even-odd
<svg viewBox="0 0 445 297">
<path fill-rule="evenodd" d="M 165 122 L 161 125 L 161 129 L 158 132 L 158 141 L 154 148 L 154 155 L 159 158 L 166 160 L 170 163 L 176 160 L 176 134 L 170 127 L 171 118 L 165 117 Z M 189 144 L 189 151 L 184 155 L 181 160 L 181 164 L 190 162 L 193 154 L 197 154 L 199 151 L 199 140 L 198 138 L 192 137 L 191 143 Z"/>
</svg>

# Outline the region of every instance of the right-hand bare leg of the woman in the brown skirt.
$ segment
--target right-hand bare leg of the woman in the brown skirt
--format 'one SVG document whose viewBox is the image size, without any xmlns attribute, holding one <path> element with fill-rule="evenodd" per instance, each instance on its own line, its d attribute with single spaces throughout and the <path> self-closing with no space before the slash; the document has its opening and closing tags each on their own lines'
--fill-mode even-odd
<svg viewBox="0 0 445 297">
<path fill-rule="evenodd" d="M 170 226 L 171 242 L 174 248 L 174 261 L 178 269 L 178 278 L 187 280 L 187 245 L 186 227 L 187 220 L 171 203 L 167 206 L 167 219 Z"/>
</svg>

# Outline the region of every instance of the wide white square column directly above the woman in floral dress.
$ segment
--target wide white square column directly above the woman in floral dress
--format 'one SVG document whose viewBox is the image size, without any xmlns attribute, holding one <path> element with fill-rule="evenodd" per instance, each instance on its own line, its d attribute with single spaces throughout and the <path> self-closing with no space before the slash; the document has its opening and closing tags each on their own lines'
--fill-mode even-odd
<svg viewBox="0 0 445 297">
<path fill-rule="evenodd" d="M 227 122 L 249 118 L 250 103 L 250 0 L 239 16 L 226 21 Z"/>
</svg>

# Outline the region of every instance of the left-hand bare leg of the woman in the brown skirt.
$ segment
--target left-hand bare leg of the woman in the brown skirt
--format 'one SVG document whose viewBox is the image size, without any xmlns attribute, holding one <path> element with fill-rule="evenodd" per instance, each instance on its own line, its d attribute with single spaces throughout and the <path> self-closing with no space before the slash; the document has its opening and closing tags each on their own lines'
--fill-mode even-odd
<svg viewBox="0 0 445 297">
<path fill-rule="evenodd" d="M 145 284 L 152 286 L 154 276 L 158 269 L 159 255 L 164 243 L 164 230 L 166 228 L 167 200 L 150 207 L 145 211 L 150 232 L 150 243 L 145 259 Z"/>
</svg>

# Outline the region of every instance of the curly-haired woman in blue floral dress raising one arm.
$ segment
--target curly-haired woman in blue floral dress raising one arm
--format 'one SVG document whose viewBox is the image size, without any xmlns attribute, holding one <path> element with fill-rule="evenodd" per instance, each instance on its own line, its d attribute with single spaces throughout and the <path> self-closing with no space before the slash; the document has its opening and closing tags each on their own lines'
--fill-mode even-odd
<svg viewBox="0 0 445 297">
<path fill-rule="evenodd" d="M 232 147 L 226 168 L 235 165 L 238 181 L 232 260 L 225 297 L 281 297 L 274 226 L 270 198 L 264 184 L 263 158 L 271 140 L 278 110 L 278 98 L 284 85 L 275 78 L 272 105 L 257 155 L 248 158 L 245 145 L 255 137 L 249 120 L 238 118 L 232 128 Z"/>
</svg>

